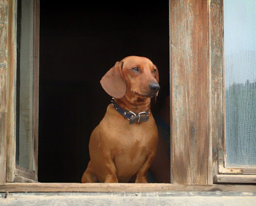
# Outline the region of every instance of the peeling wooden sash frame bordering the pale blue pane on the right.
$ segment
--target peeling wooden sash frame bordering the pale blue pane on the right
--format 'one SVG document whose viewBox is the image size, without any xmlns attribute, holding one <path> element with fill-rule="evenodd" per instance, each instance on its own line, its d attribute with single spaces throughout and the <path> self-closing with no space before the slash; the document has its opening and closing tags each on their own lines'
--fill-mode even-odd
<svg viewBox="0 0 256 206">
<path fill-rule="evenodd" d="M 211 62 L 212 62 L 212 120 L 213 168 L 215 183 L 255 183 L 256 168 L 227 167 L 225 147 L 225 90 L 224 90 L 224 28 L 223 1 L 212 4 L 211 10 Z M 216 14 L 219 18 L 215 18 Z"/>
</svg>

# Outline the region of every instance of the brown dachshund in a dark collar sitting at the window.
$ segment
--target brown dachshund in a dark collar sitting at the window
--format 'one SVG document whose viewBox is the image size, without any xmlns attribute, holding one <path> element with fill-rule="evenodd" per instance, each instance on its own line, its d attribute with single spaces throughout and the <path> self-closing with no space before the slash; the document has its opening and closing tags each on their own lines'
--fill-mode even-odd
<svg viewBox="0 0 256 206">
<path fill-rule="evenodd" d="M 102 88 L 113 98 L 89 141 L 91 160 L 82 182 L 147 182 L 157 149 L 158 132 L 150 112 L 156 97 L 158 69 L 145 57 L 129 56 L 102 77 Z"/>
</svg>

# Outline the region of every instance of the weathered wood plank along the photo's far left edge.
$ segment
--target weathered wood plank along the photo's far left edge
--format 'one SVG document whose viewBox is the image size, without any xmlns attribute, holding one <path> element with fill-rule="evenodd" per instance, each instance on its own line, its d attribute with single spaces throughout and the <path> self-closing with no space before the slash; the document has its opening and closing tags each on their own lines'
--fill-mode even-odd
<svg viewBox="0 0 256 206">
<path fill-rule="evenodd" d="M 8 1 L 0 1 L 0 184 L 6 182 Z"/>
</svg>

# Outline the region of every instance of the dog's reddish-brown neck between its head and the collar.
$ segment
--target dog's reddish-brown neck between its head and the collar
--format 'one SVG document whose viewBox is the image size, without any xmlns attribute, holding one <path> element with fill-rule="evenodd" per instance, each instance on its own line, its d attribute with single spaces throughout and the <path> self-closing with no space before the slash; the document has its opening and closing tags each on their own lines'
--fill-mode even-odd
<svg viewBox="0 0 256 206">
<path fill-rule="evenodd" d="M 129 96 L 125 95 L 121 99 L 115 99 L 115 102 L 119 105 L 119 107 L 134 113 L 150 110 L 150 98 L 140 96 L 133 96 L 132 98 L 129 98 Z"/>
</svg>

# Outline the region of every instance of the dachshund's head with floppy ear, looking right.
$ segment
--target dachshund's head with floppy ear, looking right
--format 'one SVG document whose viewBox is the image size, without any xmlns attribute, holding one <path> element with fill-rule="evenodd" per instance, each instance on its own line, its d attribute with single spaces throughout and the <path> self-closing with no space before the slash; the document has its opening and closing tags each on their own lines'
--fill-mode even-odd
<svg viewBox="0 0 256 206">
<path fill-rule="evenodd" d="M 115 65 L 102 77 L 102 88 L 114 98 L 126 94 L 140 98 L 157 96 L 160 86 L 158 69 L 145 57 L 129 56 Z"/>
</svg>

